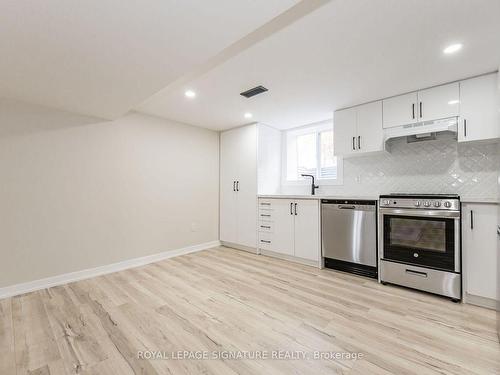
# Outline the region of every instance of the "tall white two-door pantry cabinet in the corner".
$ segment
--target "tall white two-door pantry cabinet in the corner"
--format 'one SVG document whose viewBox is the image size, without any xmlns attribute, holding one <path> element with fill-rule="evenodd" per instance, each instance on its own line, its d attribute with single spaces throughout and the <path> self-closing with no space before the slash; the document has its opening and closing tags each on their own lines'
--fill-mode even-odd
<svg viewBox="0 0 500 375">
<path fill-rule="evenodd" d="M 256 248 L 257 126 L 220 136 L 220 239 Z"/>
</svg>

